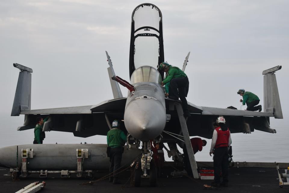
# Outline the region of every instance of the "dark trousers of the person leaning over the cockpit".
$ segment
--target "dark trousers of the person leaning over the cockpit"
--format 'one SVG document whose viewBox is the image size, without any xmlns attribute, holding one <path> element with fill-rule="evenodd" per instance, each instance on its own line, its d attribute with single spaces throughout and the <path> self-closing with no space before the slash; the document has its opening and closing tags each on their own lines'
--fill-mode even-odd
<svg viewBox="0 0 289 193">
<path fill-rule="evenodd" d="M 179 90 L 179 92 L 178 92 Z M 169 86 L 169 98 L 182 101 L 184 115 L 190 116 L 188 102 L 186 96 L 189 91 L 189 79 L 185 78 L 173 78 Z"/>
</svg>

